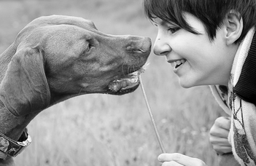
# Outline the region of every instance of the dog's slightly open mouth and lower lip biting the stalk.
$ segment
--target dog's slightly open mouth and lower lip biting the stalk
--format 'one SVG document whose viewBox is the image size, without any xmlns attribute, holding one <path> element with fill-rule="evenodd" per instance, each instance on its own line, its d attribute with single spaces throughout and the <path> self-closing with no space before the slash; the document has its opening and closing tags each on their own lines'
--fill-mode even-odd
<svg viewBox="0 0 256 166">
<path fill-rule="evenodd" d="M 140 83 L 139 75 L 144 73 L 146 66 L 147 65 L 142 66 L 139 70 L 123 76 L 121 79 L 114 80 L 109 84 L 109 90 L 120 95 L 136 90 Z"/>
</svg>

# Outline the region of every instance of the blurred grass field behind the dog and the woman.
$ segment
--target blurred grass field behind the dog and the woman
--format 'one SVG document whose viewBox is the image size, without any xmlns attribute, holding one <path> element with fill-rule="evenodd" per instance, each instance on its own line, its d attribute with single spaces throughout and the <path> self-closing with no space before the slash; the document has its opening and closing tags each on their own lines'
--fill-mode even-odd
<svg viewBox="0 0 256 166">
<path fill-rule="evenodd" d="M 31 20 L 72 15 L 93 20 L 99 31 L 150 36 L 157 29 L 144 17 L 141 0 L 0 1 L 0 50 Z M 155 122 L 168 152 L 217 165 L 209 128 L 217 106 L 209 87 L 183 89 L 165 58 L 150 55 L 142 75 Z M 33 142 L 15 161 L 19 166 L 156 166 L 161 153 L 141 89 L 123 95 L 82 95 L 42 111 L 28 125 Z"/>
</svg>

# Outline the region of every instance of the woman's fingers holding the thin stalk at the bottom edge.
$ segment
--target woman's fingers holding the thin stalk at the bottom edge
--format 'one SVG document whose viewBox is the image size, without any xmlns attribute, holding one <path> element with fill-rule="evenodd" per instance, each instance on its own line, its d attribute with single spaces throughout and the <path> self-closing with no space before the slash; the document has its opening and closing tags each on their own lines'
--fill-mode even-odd
<svg viewBox="0 0 256 166">
<path fill-rule="evenodd" d="M 162 166 L 206 166 L 201 159 L 187 157 L 183 154 L 160 154 L 158 160 L 163 162 Z"/>
</svg>

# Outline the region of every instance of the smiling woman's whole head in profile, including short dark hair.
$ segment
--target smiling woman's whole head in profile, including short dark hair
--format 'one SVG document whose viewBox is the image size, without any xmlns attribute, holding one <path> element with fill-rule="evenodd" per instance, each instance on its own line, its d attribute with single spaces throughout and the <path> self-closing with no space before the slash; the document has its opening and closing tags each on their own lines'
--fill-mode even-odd
<svg viewBox="0 0 256 166">
<path fill-rule="evenodd" d="M 166 57 L 182 87 L 228 85 L 239 43 L 255 25 L 255 3 L 144 0 L 147 16 L 158 27 L 155 55 Z"/>
</svg>

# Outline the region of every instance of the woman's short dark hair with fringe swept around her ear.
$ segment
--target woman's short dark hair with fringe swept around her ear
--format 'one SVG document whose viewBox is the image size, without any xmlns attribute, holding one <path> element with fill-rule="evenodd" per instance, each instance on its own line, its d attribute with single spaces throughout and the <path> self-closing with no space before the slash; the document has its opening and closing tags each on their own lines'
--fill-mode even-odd
<svg viewBox="0 0 256 166">
<path fill-rule="evenodd" d="M 231 10 L 238 12 L 244 21 L 243 31 L 236 42 L 241 42 L 249 29 L 256 25 L 255 0 L 144 0 L 143 4 L 144 12 L 150 20 L 159 17 L 197 34 L 184 19 L 184 12 L 189 12 L 201 20 L 210 40 L 214 40 L 217 29 Z"/>
</svg>

